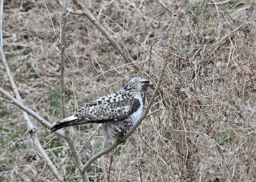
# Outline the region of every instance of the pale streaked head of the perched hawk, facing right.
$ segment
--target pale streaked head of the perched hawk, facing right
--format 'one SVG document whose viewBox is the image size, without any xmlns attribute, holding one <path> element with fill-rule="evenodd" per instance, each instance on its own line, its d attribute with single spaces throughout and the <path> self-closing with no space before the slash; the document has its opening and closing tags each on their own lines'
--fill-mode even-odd
<svg viewBox="0 0 256 182">
<path fill-rule="evenodd" d="M 143 92 L 143 91 L 147 91 L 149 86 L 153 86 L 153 85 L 154 84 L 146 77 L 134 77 L 132 80 L 130 80 L 126 84 L 124 89 Z"/>
</svg>

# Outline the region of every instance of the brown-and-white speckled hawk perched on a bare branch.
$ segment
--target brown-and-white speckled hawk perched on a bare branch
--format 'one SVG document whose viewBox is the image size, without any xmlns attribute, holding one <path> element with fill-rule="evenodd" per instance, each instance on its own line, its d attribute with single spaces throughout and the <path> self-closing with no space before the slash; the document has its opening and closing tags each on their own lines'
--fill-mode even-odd
<svg viewBox="0 0 256 182">
<path fill-rule="evenodd" d="M 103 133 L 108 140 L 120 139 L 137 123 L 145 106 L 146 92 L 154 84 L 146 77 L 134 77 L 124 89 L 109 93 L 53 124 L 51 132 L 87 123 L 103 123 Z"/>
</svg>

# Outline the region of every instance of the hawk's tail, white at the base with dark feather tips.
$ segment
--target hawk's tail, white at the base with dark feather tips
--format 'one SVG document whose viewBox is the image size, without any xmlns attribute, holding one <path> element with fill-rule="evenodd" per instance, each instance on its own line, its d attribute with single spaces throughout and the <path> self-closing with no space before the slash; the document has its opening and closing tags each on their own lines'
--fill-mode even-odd
<svg viewBox="0 0 256 182">
<path fill-rule="evenodd" d="M 53 126 L 51 128 L 51 133 L 55 132 L 61 128 L 65 128 L 68 126 L 81 125 L 81 124 L 85 124 L 85 123 L 94 123 L 94 122 L 92 122 L 90 120 L 81 120 L 78 117 L 76 117 L 75 115 L 69 116 L 69 117 L 62 119 L 59 122 L 53 124 Z"/>
</svg>

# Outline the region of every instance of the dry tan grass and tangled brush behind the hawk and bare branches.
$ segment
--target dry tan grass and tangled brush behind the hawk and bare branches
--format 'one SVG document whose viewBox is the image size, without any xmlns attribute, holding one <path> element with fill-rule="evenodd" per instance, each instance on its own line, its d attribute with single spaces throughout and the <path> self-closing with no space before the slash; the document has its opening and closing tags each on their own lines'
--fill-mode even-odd
<svg viewBox="0 0 256 182">
<path fill-rule="evenodd" d="M 156 112 L 114 151 L 110 181 L 255 181 L 254 4 L 200 1 L 182 7 L 166 75 L 150 110 Z M 91 22 L 70 14 L 68 114 L 122 88 L 135 75 L 156 81 L 172 33 L 175 16 L 157 1 L 99 1 L 93 7 L 141 71 L 125 63 Z M 59 21 L 61 8 L 54 1 L 4 4 L 4 50 L 14 80 L 23 103 L 50 123 L 61 118 Z M 2 64 L 0 77 L 1 87 L 12 93 Z M 0 109 L 0 181 L 55 180 L 19 109 L 5 102 Z M 77 181 L 67 143 L 34 124 L 59 171 L 68 181 Z M 74 127 L 76 145 L 82 146 L 96 128 Z M 108 145 L 99 132 L 83 151 L 83 161 Z M 108 168 L 109 157 L 103 155 L 88 170 L 91 181 L 106 181 Z"/>
</svg>

